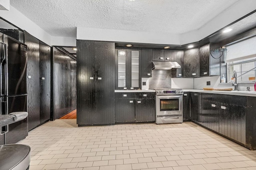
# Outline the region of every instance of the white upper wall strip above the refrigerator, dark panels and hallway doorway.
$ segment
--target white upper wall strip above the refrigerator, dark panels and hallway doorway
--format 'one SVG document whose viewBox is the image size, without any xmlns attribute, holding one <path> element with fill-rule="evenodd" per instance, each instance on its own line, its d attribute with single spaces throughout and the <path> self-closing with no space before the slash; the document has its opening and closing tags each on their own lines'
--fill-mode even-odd
<svg viewBox="0 0 256 170">
<path fill-rule="evenodd" d="M 0 16 L 50 46 L 76 46 L 76 38 L 51 36 L 11 5 L 10 11 L 0 10 Z"/>
</svg>

